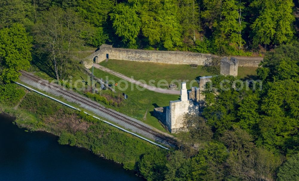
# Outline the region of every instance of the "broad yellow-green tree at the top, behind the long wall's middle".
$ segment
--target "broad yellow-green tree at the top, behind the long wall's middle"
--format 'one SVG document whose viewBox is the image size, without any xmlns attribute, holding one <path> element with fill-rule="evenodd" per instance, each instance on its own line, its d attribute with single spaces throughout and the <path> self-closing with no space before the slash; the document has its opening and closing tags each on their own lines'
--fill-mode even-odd
<svg viewBox="0 0 299 181">
<path fill-rule="evenodd" d="M 149 45 L 167 50 L 175 50 L 182 45 L 178 11 L 178 3 L 174 0 L 143 1 L 141 30 Z"/>
</svg>

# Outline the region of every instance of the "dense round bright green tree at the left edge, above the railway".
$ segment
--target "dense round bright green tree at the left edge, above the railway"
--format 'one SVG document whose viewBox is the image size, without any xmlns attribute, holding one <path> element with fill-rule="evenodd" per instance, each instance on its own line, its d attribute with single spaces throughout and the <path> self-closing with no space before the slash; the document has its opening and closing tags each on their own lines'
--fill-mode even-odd
<svg viewBox="0 0 299 181">
<path fill-rule="evenodd" d="M 19 70 L 29 68 L 32 37 L 21 24 L 0 30 L 0 82 L 9 83 L 19 78 Z"/>
</svg>

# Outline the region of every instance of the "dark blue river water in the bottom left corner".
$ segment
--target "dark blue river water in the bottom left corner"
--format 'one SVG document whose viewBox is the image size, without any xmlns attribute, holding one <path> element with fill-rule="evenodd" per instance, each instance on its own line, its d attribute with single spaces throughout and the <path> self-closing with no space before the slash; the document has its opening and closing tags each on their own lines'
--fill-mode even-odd
<svg viewBox="0 0 299 181">
<path fill-rule="evenodd" d="M 143 180 L 86 149 L 59 145 L 57 138 L 25 132 L 0 114 L 0 181 Z"/>
</svg>

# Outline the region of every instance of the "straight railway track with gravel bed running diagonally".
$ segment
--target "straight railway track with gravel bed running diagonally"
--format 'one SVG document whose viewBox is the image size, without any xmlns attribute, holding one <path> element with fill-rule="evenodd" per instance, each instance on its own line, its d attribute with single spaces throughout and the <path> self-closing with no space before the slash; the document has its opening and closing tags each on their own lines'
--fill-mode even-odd
<svg viewBox="0 0 299 181">
<path fill-rule="evenodd" d="M 23 76 L 27 77 L 28 79 L 31 79 L 34 82 L 37 82 L 37 83 L 39 83 L 41 85 L 49 87 L 49 88 L 53 89 L 56 92 L 59 92 L 59 93 L 65 95 L 65 96 L 69 96 L 69 97 L 71 97 L 73 99 L 76 99 L 78 102 L 81 102 L 83 104 L 89 105 L 92 108 L 95 108 L 95 109 L 97 109 L 97 110 L 99 110 L 99 111 L 101 111 L 103 113 L 106 113 L 106 114 L 108 114 L 109 116 L 112 116 L 115 119 L 118 119 L 118 120 L 120 120 L 122 122 L 125 122 L 126 124 L 129 124 L 129 125 L 134 126 L 134 127 L 138 128 L 138 129 L 140 129 L 142 131 L 147 132 L 148 134 L 151 134 L 151 135 L 155 136 L 158 139 L 158 141 L 160 141 L 160 142 L 167 142 L 169 145 L 176 146 L 176 141 L 174 139 L 170 138 L 170 137 L 167 137 L 167 136 L 165 136 L 165 135 L 163 135 L 161 133 L 153 131 L 152 129 L 147 128 L 144 125 L 138 124 L 137 122 L 132 121 L 132 120 L 130 120 L 130 119 L 128 119 L 128 118 L 126 118 L 126 117 L 118 114 L 118 113 L 112 112 L 112 111 L 110 111 L 109 109 L 106 109 L 103 106 L 96 105 L 96 104 L 90 102 L 88 99 L 84 99 L 82 97 L 78 97 L 78 96 L 74 95 L 73 93 L 71 93 L 69 91 L 65 91 L 65 90 L 62 90 L 61 88 L 59 88 L 59 87 L 57 87 L 55 85 L 51 85 L 51 84 L 49 84 L 49 83 L 47 83 L 47 82 L 39 79 L 38 77 L 33 76 L 33 75 L 31 75 L 31 74 L 29 74 L 29 73 L 27 73 L 25 71 L 21 70 L 20 72 L 22 73 Z"/>
</svg>

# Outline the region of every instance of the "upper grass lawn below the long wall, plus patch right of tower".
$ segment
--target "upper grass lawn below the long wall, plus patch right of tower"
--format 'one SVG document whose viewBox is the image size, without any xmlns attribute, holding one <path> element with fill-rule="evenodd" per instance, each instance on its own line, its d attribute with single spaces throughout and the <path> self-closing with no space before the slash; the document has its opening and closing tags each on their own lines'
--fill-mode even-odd
<svg viewBox="0 0 299 181">
<path fill-rule="evenodd" d="M 219 73 L 209 72 L 203 66 L 197 68 L 190 67 L 190 65 L 171 65 L 152 62 L 134 62 L 126 60 L 113 60 L 109 59 L 108 62 L 100 62 L 100 65 L 114 70 L 115 72 L 122 73 L 125 76 L 133 76 L 135 80 L 145 80 L 147 83 L 149 80 L 155 80 L 155 86 L 161 79 L 165 79 L 169 84 L 172 80 L 189 80 L 188 82 L 198 79 L 202 76 L 218 75 Z M 256 68 L 252 67 L 239 67 L 238 76 L 241 79 L 247 79 L 248 77 L 254 77 L 256 75 Z M 178 84 L 177 84 L 178 85 Z M 196 83 L 192 86 L 198 87 Z M 187 83 L 187 88 L 192 86 Z M 161 86 L 163 88 L 163 86 Z M 165 87 L 165 86 L 164 86 Z"/>
</svg>

